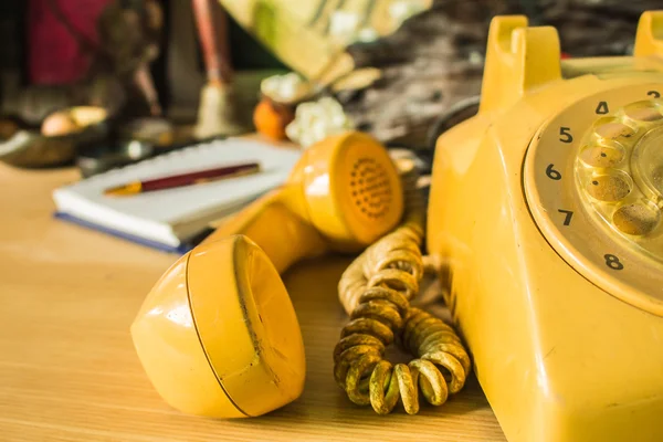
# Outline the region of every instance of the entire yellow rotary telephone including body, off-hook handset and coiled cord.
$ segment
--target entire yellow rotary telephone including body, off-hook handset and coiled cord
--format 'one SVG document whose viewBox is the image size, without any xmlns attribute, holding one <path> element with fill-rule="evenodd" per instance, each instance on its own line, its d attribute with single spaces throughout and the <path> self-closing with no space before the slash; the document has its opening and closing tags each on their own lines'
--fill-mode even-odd
<svg viewBox="0 0 663 442">
<path fill-rule="evenodd" d="M 560 61 L 552 28 L 494 19 L 480 112 L 438 143 L 429 265 L 412 177 L 364 134 L 326 139 L 157 282 L 131 325 L 155 388 L 220 418 L 296 399 L 304 348 L 280 273 L 368 246 L 339 282 L 351 320 L 334 372 L 354 402 L 415 413 L 420 394 L 463 387 L 460 339 L 409 305 L 428 267 L 511 441 L 662 440 L 662 35 L 648 12 L 634 56 Z M 417 359 L 383 360 L 392 341 Z"/>
</svg>

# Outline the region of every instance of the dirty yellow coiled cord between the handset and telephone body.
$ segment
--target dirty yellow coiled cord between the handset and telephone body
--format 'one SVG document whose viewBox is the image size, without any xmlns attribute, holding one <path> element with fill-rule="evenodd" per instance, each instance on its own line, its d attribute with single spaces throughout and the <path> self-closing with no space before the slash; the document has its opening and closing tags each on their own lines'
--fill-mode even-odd
<svg viewBox="0 0 663 442">
<path fill-rule="evenodd" d="M 419 394 L 443 404 L 460 391 L 471 361 L 460 338 L 442 319 L 410 306 L 424 272 L 421 242 L 425 201 L 417 189 L 413 165 L 399 165 L 406 198 L 400 227 L 359 255 L 343 274 L 338 293 L 350 315 L 334 349 L 334 377 L 348 398 L 390 413 L 399 399 L 406 412 L 419 412 Z M 428 261 L 427 261 L 428 266 Z M 383 359 L 394 343 L 414 356 L 409 364 Z"/>
</svg>

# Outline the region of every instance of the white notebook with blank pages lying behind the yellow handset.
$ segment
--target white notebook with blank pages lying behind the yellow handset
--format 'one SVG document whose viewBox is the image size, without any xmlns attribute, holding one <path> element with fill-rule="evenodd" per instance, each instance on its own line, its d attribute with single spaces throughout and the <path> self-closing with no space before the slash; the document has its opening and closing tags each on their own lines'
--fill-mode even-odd
<svg viewBox="0 0 663 442">
<path fill-rule="evenodd" d="M 193 145 L 53 191 L 55 217 L 169 252 L 186 252 L 211 222 L 281 186 L 301 151 L 265 141 L 225 138 Z M 256 175 L 203 185 L 108 197 L 107 188 L 213 167 L 257 161 Z"/>
</svg>

